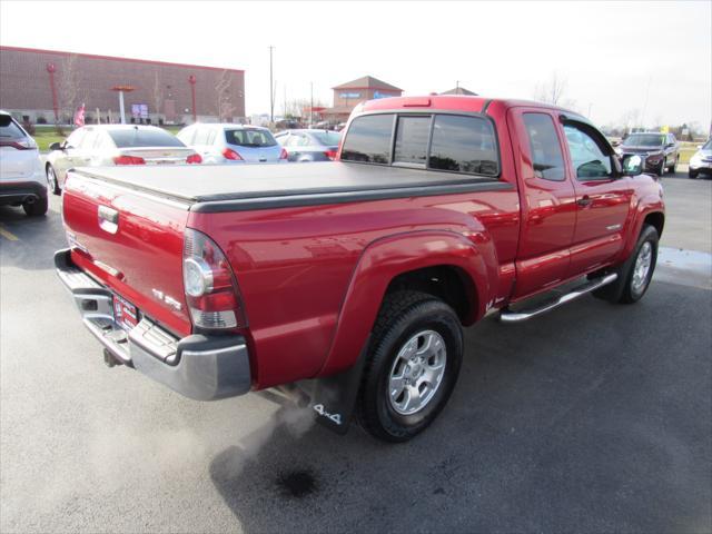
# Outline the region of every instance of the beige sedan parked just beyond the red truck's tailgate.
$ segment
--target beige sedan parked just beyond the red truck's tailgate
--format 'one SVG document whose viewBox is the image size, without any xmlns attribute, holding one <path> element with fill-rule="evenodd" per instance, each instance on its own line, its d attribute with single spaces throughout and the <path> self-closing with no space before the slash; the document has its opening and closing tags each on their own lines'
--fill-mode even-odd
<svg viewBox="0 0 712 534">
<path fill-rule="evenodd" d="M 59 195 L 72 167 L 199 164 L 200 156 L 172 134 L 155 126 L 96 125 L 76 129 L 63 142 L 50 145 L 44 171 Z"/>
</svg>

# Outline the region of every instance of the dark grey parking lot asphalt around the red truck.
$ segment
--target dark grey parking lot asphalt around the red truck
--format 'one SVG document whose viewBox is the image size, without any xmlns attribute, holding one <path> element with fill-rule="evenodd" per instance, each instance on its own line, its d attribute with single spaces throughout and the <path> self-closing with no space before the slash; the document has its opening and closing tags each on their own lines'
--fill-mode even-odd
<svg viewBox="0 0 712 534">
<path fill-rule="evenodd" d="M 467 329 L 448 406 L 404 445 L 106 368 L 53 273 L 58 198 L 0 208 L 0 531 L 711 532 L 712 181 L 663 180 L 645 298 Z"/>
</svg>

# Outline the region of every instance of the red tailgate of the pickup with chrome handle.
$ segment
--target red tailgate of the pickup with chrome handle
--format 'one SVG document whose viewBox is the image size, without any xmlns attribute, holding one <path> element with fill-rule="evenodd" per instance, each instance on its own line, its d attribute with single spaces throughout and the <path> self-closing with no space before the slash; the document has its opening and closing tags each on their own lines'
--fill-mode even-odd
<svg viewBox="0 0 712 534">
<path fill-rule="evenodd" d="M 62 202 L 72 260 L 129 309 L 190 334 L 182 287 L 189 206 L 71 171 Z"/>
</svg>

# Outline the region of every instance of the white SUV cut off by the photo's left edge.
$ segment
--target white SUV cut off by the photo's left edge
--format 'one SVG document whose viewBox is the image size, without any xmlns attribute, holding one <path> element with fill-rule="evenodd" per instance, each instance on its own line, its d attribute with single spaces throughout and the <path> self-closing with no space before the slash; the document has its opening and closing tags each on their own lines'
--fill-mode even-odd
<svg viewBox="0 0 712 534">
<path fill-rule="evenodd" d="M 47 184 L 37 144 L 0 111 L 0 205 L 22 206 L 29 216 L 47 214 Z"/>
</svg>

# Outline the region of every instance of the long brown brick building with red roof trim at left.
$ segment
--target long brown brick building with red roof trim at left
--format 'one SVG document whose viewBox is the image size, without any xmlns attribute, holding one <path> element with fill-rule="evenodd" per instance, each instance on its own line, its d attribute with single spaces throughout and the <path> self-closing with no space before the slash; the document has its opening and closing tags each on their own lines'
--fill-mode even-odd
<svg viewBox="0 0 712 534">
<path fill-rule="evenodd" d="M 0 47 L 0 108 L 38 123 L 241 122 L 245 71 L 144 59 Z"/>
</svg>

